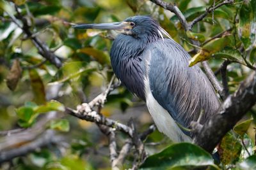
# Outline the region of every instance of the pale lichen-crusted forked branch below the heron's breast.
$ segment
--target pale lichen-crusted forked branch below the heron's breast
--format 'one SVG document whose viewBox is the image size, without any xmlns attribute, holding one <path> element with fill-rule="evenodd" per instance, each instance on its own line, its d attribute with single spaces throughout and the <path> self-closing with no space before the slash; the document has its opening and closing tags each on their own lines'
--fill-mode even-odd
<svg viewBox="0 0 256 170">
<path fill-rule="evenodd" d="M 99 126 L 100 131 L 105 134 L 109 139 L 109 152 L 112 169 L 122 169 L 122 164 L 124 163 L 125 157 L 131 152 L 131 148 L 133 146 L 134 148 L 136 148 L 136 153 L 134 154 L 135 156 L 134 162 L 132 164 L 132 169 L 138 169 L 140 164 L 147 157 L 147 154 L 144 150 L 144 143 L 142 141 L 145 140 L 149 134 L 156 130 L 156 126 L 151 125 L 147 129 L 147 131 L 138 134 L 132 120 L 129 121 L 129 125 L 124 125 L 115 120 L 111 120 L 110 118 L 106 118 L 102 114 L 100 114 L 100 110 L 104 106 L 106 97 L 108 96 L 109 92 L 119 86 L 119 83 L 113 84 L 114 79 L 115 76 L 112 76 L 108 88 L 104 92 L 99 94 L 99 96 L 95 97 L 92 101 L 90 101 L 90 103 L 83 103 L 77 106 L 77 110 L 66 108 L 65 112 L 77 118 L 81 118 L 90 122 L 95 122 Z M 97 111 L 93 110 L 95 106 L 97 106 L 98 108 Z M 116 130 L 125 132 L 129 136 L 129 139 L 127 139 L 127 142 L 122 147 L 119 155 L 117 154 L 118 152 L 116 149 Z"/>
</svg>

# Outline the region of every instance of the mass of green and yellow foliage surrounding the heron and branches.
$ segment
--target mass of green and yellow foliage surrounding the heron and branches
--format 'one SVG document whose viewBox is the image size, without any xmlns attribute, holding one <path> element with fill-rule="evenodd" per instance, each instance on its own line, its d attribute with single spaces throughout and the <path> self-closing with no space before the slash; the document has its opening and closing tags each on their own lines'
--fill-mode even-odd
<svg viewBox="0 0 256 170">
<path fill-rule="evenodd" d="M 191 22 L 209 6 L 222 1 L 168 2 L 177 4 L 186 20 Z M 17 26 L 22 25 L 21 20 L 15 20 L 17 24 L 13 22 L 13 18 L 19 18 L 15 5 L 20 15 L 26 18 L 33 34 L 26 34 Z M 172 38 L 191 54 L 189 66 L 208 60 L 218 80 L 221 80 L 218 74 L 221 62 L 230 61 L 227 67 L 230 93 L 255 69 L 255 0 L 236 0 L 233 4 L 220 6 L 196 23 L 191 31 L 184 31 L 179 18 L 173 13 L 146 0 L 0 0 L 0 130 L 35 127 L 40 124 L 40 118 L 54 112 L 58 116 L 44 124 L 45 129 L 53 129 L 56 134 L 67 138 L 64 146 L 48 145 L 25 157 L 17 157 L 0 168 L 110 169 L 106 151 L 108 141 L 99 129 L 90 122 L 63 115 L 63 111 L 67 106 L 76 108 L 82 101 L 90 101 L 108 85 L 113 74 L 109 50 L 115 32 L 74 30 L 70 23 L 116 22 L 132 15 L 152 15 L 156 18 Z M 42 44 L 61 60 L 62 67 L 54 66 L 38 52 L 33 37 L 44 42 Z M 191 45 L 189 38 L 200 41 L 201 45 Z M 121 86 L 108 96 L 101 113 L 122 122 L 128 122 L 132 115 L 141 132 L 152 123 L 142 103 Z M 214 164 L 211 155 L 198 146 L 189 143 L 170 145 L 163 134 L 154 132 L 145 143 L 165 142 L 157 146 L 145 145 L 150 157 L 141 169 L 191 169 L 197 166 L 255 169 L 255 111 L 256 108 L 252 108 L 245 122 L 237 124 L 234 131 L 221 141 L 220 164 Z M 118 138 L 119 145 L 125 143 L 124 134 L 118 133 Z M 124 168 L 132 166 L 133 156 L 130 154 L 125 160 Z"/>
</svg>

